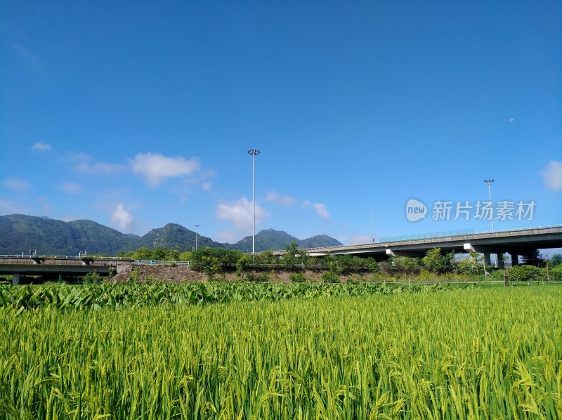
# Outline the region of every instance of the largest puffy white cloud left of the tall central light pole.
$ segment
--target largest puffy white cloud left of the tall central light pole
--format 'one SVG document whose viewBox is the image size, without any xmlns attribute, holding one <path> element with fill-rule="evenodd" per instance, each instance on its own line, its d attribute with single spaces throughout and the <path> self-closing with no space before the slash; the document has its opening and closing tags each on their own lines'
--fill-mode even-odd
<svg viewBox="0 0 562 420">
<path fill-rule="evenodd" d="M 139 153 L 129 159 L 133 173 L 146 178 L 148 185 L 158 185 L 166 178 L 191 175 L 199 171 L 199 159 L 192 157 L 185 160 L 183 157 L 165 157 L 153 153 Z"/>
</svg>

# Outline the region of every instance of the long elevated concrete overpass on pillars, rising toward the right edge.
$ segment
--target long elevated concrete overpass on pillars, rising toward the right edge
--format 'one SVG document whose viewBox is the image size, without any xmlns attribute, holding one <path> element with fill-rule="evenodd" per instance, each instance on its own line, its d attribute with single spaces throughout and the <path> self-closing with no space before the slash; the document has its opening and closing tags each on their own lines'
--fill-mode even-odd
<svg viewBox="0 0 562 420">
<path fill-rule="evenodd" d="M 311 256 L 355 255 L 383 260 L 391 256 L 425 256 L 426 252 L 433 248 L 440 248 L 445 253 L 479 252 L 484 254 L 485 262 L 488 264 L 490 264 L 490 254 L 501 256 L 507 253 L 511 255 L 512 265 L 517 265 L 518 256 L 528 254 L 530 251 L 562 248 L 562 225 L 423 239 L 398 239 L 370 244 L 309 248 L 303 251 Z M 282 255 L 285 251 L 276 251 L 273 254 Z M 497 261 L 499 268 L 502 268 L 502 258 L 497 258 Z"/>
</svg>

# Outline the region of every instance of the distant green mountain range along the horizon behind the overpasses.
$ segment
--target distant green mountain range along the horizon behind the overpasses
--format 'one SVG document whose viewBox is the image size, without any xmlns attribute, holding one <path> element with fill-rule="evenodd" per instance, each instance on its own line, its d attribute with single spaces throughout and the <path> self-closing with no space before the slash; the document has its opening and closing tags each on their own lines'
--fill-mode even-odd
<svg viewBox="0 0 562 420">
<path fill-rule="evenodd" d="M 333 237 L 318 235 L 297 239 L 280 230 L 261 230 L 256 234 L 256 251 L 285 249 L 295 241 L 299 248 L 329 247 L 341 245 Z M 176 223 L 163 228 L 152 229 L 146 235 L 124 234 L 93 221 L 58 221 L 51 218 L 9 214 L 0 216 L 0 254 L 28 254 L 37 250 L 42 255 L 77 255 L 79 251 L 88 254 L 115 255 L 146 247 L 164 247 L 178 251 L 195 248 L 195 232 Z M 237 249 L 251 251 L 251 236 L 235 244 L 221 244 L 209 237 L 197 235 L 197 247 Z"/>
</svg>

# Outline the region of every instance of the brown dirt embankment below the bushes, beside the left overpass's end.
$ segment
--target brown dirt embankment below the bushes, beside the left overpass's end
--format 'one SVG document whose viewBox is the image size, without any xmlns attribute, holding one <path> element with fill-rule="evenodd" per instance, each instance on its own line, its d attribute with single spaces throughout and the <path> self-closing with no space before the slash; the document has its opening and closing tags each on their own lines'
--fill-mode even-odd
<svg viewBox="0 0 562 420">
<path fill-rule="evenodd" d="M 289 282 L 291 274 L 274 271 L 262 273 L 266 275 L 266 279 L 270 282 Z M 304 275 L 307 280 L 322 281 L 322 273 L 307 271 Z M 124 268 L 121 273 L 111 277 L 111 281 L 126 282 L 129 278 L 139 282 L 154 279 L 174 283 L 209 280 L 209 276 L 194 271 L 185 265 L 178 265 L 176 267 L 171 265 L 131 265 Z M 239 277 L 236 273 L 221 273 L 217 274 L 214 278 L 215 280 L 237 280 Z"/>
</svg>

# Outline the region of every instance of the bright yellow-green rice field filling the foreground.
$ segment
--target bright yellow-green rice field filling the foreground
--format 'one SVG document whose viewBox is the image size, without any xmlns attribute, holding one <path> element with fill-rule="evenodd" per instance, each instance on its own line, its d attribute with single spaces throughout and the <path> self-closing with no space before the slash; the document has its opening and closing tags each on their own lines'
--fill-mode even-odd
<svg viewBox="0 0 562 420">
<path fill-rule="evenodd" d="M 562 418 L 554 285 L 96 309 L 0 307 L 0 419 Z"/>
</svg>

